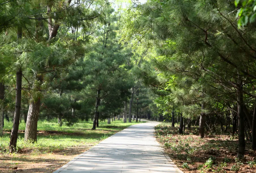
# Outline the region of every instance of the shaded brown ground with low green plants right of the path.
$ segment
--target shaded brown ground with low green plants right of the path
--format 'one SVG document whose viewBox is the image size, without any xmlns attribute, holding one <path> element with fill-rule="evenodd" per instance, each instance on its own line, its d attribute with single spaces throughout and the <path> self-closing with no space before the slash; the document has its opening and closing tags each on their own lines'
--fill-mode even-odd
<svg viewBox="0 0 256 173">
<path fill-rule="evenodd" d="M 236 159 L 238 136 L 230 133 L 206 133 L 199 137 L 198 127 L 186 128 L 183 135 L 178 127 L 161 123 L 156 129 L 157 141 L 184 173 L 255 173 L 256 152 L 246 142 L 244 159 Z"/>
</svg>

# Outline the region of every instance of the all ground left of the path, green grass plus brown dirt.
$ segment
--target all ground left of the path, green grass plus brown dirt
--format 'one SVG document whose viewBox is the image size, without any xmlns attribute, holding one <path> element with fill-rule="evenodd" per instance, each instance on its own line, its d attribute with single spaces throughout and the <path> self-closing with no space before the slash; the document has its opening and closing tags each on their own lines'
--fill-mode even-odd
<svg viewBox="0 0 256 173">
<path fill-rule="evenodd" d="M 5 121 L 5 134 L 0 137 L 0 172 L 52 173 L 76 155 L 139 122 L 113 121 L 107 124 L 107 121 L 102 121 L 99 122 L 99 128 L 90 130 L 92 123 L 92 121 L 81 121 L 71 127 L 66 124 L 59 127 L 57 120 L 38 121 L 38 142 L 29 144 L 23 140 L 26 124 L 22 122 L 19 126 L 18 150 L 10 154 L 8 145 L 12 123 Z"/>
</svg>

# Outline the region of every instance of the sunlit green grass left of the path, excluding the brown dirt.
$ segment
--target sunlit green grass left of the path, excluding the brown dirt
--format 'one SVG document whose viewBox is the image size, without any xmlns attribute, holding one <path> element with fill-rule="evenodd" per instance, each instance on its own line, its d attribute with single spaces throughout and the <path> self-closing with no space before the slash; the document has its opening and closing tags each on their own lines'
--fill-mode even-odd
<svg viewBox="0 0 256 173">
<path fill-rule="evenodd" d="M 145 122 L 145 121 L 143 121 Z M 55 151 L 65 150 L 69 147 L 91 146 L 99 143 L 99 141 L 112 136 L 113 134 L 134 124 L 123 123 L 122 121 L 113 121 L 107 124 L 107 121 L 99 122 L 99 128 L 90 130 L 93 126 L 92 121 L 81 121 L 73 126 L 63 124 L 58 126 L 57 120 L 38 121 L 38 142 L 31 144 L 24 141 L 24 132 L 19 133 L 17 140 L 18 153 L 52 153 Z M 25 130 L 26 124 L 22 122 L 19 130 Z M 10 140 L 10 132 L 12 130 L 12 122 L 5 122 L 3 137 L 0 137 L 0 151 L 7 152 Z M 47 132 L 46 132 L 47 131 Z"/>
</svg>

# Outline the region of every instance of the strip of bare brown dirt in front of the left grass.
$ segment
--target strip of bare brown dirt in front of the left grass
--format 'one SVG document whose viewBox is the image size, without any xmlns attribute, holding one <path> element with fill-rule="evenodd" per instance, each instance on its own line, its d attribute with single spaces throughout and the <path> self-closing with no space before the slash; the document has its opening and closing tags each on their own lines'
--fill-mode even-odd
<svg viewBox="0 0 256 173">
<path fill-rule="evenodd" d="M 53 153 L 15 153 L 0 155 L 1 173 L 52 173 L 93 145 L 71 147 Z"/>
</svg>

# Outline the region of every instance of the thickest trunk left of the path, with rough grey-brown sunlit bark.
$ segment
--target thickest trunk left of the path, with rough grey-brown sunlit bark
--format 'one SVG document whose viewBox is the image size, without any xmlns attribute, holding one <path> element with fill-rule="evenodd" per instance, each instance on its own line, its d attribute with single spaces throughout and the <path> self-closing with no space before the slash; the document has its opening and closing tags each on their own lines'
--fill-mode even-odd
<svg viewBox="0 0 256 173">
<path fill-rule="evenodd" d="M 40 84 L 43 81 L 42 75 L 37 75 L 37 81 Z M 34 84 L 35 85 L 35 84 Z M 35 86 L 35 89 L 40 91 L 41 87 Z M 25 129 L 25 141 L 37 142 L 37 124 L 39 118 L 41 98 L 32 98 L 29 104 L 29 112 L 27 116 L 26 129 Z"/>
</svg>

